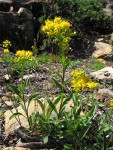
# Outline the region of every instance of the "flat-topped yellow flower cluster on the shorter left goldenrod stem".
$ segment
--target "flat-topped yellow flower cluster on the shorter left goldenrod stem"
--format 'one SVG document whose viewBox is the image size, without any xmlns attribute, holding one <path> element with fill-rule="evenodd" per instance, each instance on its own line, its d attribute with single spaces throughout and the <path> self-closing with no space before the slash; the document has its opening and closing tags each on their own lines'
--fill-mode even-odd
<svg viewBox="0 0 113 150">
<path fill-rule="evenodd" d="M 31 51 L 18 50 L 16 51 L 15 62 L 18 62 L 19 60 L 29 60 L 32 56 L 33 53 Z"/>
</svg>

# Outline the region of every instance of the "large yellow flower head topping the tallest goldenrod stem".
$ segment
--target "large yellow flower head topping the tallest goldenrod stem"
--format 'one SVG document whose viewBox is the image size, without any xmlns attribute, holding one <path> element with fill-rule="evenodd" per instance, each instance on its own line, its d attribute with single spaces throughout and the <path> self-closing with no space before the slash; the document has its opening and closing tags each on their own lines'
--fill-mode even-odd
<svg viewBox="0 0 113 150">
<path fill-rule="evenodd" d="M 76 35 L 76 32 L 73 32 L 70 27 L 71 24 L 69 21 L 63 20 L 61 17 L 55 17 L 53 20 L 47 19 L 41 30 L 48 37 L 53 37 L 60 49 L 66 50 L 69 49 L 71 36 Z"/>
</svg>

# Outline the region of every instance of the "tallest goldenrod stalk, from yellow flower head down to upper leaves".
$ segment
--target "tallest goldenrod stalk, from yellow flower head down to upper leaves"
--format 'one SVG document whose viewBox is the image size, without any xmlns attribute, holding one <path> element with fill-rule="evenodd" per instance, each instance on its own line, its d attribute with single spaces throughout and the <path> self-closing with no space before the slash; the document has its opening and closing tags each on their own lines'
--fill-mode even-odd
<svg viewBox="0 0 113 150">
<path fill-rule="evenodd" d="M 57 16 L 53 20 L 47 19 L 45 25 L 41 27 L 41 30 L 47 34 L 48 38 L 51 37 L 53 39 L 52 42 L 58 45 L 60 51 L 59 55 L 61 56 L 62 73 L 57 71 L 60 82 L 55 78 L 53 78 L 53 81 L 59 86 L 60 90 L 64 92 L 68 82 L 68 79 L 65 80 L 65 72 L 69 66 L 69 59 L 66 57 L 66 53 L 71 49 L 69 42 L 71 41 L 71 37 L 76 35 L 76 32 L 72 31 L 69 21 Z"/>
</svg>

